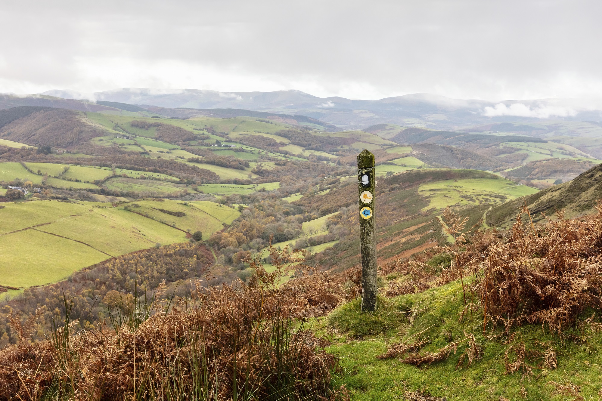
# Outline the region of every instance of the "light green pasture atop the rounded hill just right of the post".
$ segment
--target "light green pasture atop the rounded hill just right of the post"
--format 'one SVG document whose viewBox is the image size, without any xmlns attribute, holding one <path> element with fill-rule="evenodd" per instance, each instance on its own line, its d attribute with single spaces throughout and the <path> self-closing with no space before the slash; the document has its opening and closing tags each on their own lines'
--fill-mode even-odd
<svg viewBox="0 0 602 401">
<path fill-rule="evenodd" d="M 537 189 L 503 178 L 447 179 L 418 187 L 418 193 L 429 199 L 423 210 L 459 205 L 483 205 L 509 201 L 538 192 Z"/>
</svg>

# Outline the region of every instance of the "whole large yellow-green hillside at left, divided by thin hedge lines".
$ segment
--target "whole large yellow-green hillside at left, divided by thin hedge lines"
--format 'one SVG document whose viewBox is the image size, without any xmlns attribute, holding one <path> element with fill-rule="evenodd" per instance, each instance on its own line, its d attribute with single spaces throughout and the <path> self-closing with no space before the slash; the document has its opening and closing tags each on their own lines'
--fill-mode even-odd
<svg viewBox="0 0 602 401">
<path fill-rule="evenodd" d="M 186 241 L 186 229 L 199 229 L 208 238 L 240 216 L 237 210 L 213 202 L 138 204 L 148 217 L 101 202 L 5 202 L 0 209 L 0 284 L 29 287 L 60 281 L 111 256 Z M 184 211 L 186 216 L 152 207 Z"/>
</svg>

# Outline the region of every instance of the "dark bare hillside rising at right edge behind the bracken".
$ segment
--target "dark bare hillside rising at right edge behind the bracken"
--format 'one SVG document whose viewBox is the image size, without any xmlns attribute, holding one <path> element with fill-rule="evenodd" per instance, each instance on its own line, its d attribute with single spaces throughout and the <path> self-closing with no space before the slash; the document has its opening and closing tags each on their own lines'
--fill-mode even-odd
<svg viewBox="0 0 602 401">
<path fill-rule="evenodd" d="M 580 174 L 573 181 L 523 196 L 493 207 L 487 212 L 490 226 L 509 226 L 523 205 L 527 204 L 534 221 L 565 209 L 565 217 L 577 217 L 594 211 L 594 202 L 602 198 L 602 164 Z"/>
</svg>

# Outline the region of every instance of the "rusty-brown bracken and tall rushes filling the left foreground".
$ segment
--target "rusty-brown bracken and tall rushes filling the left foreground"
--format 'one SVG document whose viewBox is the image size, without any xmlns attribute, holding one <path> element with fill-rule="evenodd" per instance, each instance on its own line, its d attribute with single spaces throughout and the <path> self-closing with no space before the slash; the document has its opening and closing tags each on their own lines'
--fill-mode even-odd
<svg viewBox="0 0 602 401">
<path fill-rule="evenodd" d="M 256 270 L 247 283 L 197 282 L 190 299 L 171 306 L 160 297 L 129 297 L 117 330 L 96 325 L 73 332 L 69 297 L 66 323 L 48 341 L 28 339 L 36 316 L 13 318 L 20 341 L 0 351 L 0 399 L 331 398 L 335 359 L 309 329 L 311 317 L 338 305 L 340 288 L 325 273 L 299 266 L 299 252 L 272 247 L 270 253 L 276 270 L 249 260 Z M 299 278 L 282 283 L 293 268 Z"/>
</svg>

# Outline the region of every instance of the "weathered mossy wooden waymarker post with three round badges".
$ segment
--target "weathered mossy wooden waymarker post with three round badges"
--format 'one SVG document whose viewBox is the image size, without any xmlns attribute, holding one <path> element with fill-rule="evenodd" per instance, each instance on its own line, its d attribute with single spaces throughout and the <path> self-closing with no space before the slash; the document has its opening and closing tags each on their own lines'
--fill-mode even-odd
<svg viewBox="0 0 602 401">
<path fill-rule="evenodd" d="M 374 155 L 364 149 L 358 155 L 359 241 L 362 253 L 362 311 L 376 309 L 376 224 Z"/>
</svg>

